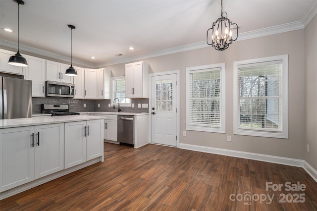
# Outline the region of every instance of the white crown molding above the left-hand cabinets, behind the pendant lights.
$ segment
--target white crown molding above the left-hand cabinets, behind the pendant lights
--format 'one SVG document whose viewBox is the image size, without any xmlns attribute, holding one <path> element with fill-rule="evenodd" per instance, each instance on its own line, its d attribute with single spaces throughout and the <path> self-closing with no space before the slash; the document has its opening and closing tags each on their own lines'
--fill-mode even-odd
<svg viewBox="0 0 317 211">
<path fill-rule="evenodd" d="M 7 40 L 0 39 L 0 45 L 8 47 L 8 48 L 16 49 L 18 44 L 15 43 L 15 42 L 12 42 L 12 41 L 7 41 Z M 38 54 L 38 55 L 47 56 L 47 57 L 58 59 L 58 60 L 61 60 L 61 61 L 65 61 L 65 62 L 69 62 L 69 63 L 71 62 L 71 58 L 68 57 L 68 56 L 60 55 L 60 54 L 57 54 L 57 53 L 51 53 L 51 52 L 44 51 L 44 50 L 41 50 L 41 49 L 37 49 L 37 48 L 30 47 L 30 46 L 26 46 L 26 45 L 23 45 L 23 44 L 19 44 L 19 49 L 21 51 L 25 51 L 25 52 L 28 52 L 28 53 L 35 53 L 35 54 Z M 83 62 L 81 60 L 74 59 L 74 58 L 73 58 L 73 64 L 94 68 L 94 64 Z"/>
</svg>

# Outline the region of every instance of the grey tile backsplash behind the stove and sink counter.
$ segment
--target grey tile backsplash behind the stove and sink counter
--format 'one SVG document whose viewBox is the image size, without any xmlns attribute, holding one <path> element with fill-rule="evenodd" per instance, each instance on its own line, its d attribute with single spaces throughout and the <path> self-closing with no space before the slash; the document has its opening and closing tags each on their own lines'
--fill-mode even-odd
<svg viewBox="0 0 317 211">
<path fill-rule="evenodd" d="M 72 112 L 107 112 L 107 111 L 117 111 L 118 107 L 108 106 L 110 104 L 110 100 L 79 100 L 72 98 L 54 98 L 54 97 L 46 97 L 46 98 L 32 98 L 32 114 L 41 113 L 41 105 L 42 104 L 69 104 L 69 111 Z M 86 107 L 84 107 L 86 104 Z M 98 107 L 100 104 L 100 107 Z M 121 107 L 122 112 L 149 112 L 149 108 L 146 105 L 149 105 L 149 99 L 132 99 L 132 104 L 134 107 Z M 140 104 L 142 107 L 138 107 Z"/>
</svg>

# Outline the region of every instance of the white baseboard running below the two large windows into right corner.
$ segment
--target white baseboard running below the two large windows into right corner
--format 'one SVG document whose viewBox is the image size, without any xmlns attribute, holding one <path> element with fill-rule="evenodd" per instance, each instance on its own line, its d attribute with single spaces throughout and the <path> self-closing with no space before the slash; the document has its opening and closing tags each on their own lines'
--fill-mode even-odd
<svg viewBox="0 0 317 211">
<path fill-rule="evenodd" d="M 226 149 L 204 147 L 204 146 L 182 144 L 182 143 L 180 143 L 179 148 L 185 149 L 185 150 L 203 152 L 203 153 L 211 153 L 211 154 L 217 154 L 217 155 L 223 155 L 223 156 L 246 158 L 246 159 L 253 159 L 253 160 L 259 160 L 264 162 L 272 162 L 272 163 L 278 163 L 283 165 L 302 167 L 317 182 L 317 170 L 314 169 L 310 164 L 308 164 L 305 160 L 302 160 L 302 159 L 268 156 L 268 155 L 257 154 L 257 153 L 248 153 L 248 152 L 241 152 L 241 151 L 235 151 L 235 150 L 226 150 Z"/>
</svg>

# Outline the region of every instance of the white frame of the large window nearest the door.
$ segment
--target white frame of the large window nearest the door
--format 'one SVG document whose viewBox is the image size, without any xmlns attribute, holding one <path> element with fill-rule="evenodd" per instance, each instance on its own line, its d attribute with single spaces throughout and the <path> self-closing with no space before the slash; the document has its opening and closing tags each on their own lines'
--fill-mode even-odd
<svg viewBox="0 0 317 211">
<path fill-rule="evenodd" d="M 186 68 L 186 130 L 225 133 L 225 63 L 208 64 Z M 190 125 L 190 73 L 198 70 L 220 68 L 220 127 L 203 127 Z"/>
</svg>

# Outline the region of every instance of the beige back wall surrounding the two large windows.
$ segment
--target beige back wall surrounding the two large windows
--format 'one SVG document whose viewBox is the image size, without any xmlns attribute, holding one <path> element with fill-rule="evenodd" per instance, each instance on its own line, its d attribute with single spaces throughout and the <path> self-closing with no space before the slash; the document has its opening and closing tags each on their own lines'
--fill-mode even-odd
<svg viewBox="0 0 317 211">
<path fill-rule="evenodd" d="M 316 34 L 316 33 L 315 33 Z M 180 133 L 185 131 L 186 67 L 226 63 L 226 133 L 187 131 L 180 143 L 228 150 L 304 159 L 305 145 L 305 42 L 304 29 L 233 42 L 223 52 L 211 46 L 182 53 L 144 59 L 150 73 L 180 70 Z M 314 39 L 313 37 L 310 40 Z M 233 62 L 289 54 L 289 139 L 233 135 Z M 316 59 L 315 59 L 316 60 Z M 113 76 L 124 75 L 124 64 L 107 66 Z M 315 77 L 316 78 L 316 77 Z M 315 82 L 316 84 L 316 82 Z M 316 85 L 315 85 L 316 88 Z M 316 93 L 316 92 L 315 92 Z M 316 107 L 316 106 L 315 106 Z M 316 127 L 315 127 L 316 128 Z M 232 142 L 226 141 L 231 135 Z M 315 166 L 316 167 L 316 166 Z"/>
</svg>

